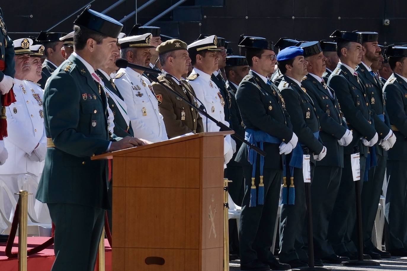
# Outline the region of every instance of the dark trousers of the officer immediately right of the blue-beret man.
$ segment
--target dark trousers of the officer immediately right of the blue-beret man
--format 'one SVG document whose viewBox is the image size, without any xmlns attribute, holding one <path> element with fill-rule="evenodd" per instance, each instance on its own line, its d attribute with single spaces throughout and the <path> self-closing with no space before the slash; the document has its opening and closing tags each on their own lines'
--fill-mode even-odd
<svg viewBox="0 0 407 271">
<path fill-rule="evenodd" d="M 324 258 L 335 253 L 328 241 L 328 228 L 341 176 L 340 167 L 317 165 L 314 170 L 314 178 L 311 183 L 311 204 L 315 258 Z M 303 240 L 307 240 L 307 236 L 304 234 Z"/>
</svg>

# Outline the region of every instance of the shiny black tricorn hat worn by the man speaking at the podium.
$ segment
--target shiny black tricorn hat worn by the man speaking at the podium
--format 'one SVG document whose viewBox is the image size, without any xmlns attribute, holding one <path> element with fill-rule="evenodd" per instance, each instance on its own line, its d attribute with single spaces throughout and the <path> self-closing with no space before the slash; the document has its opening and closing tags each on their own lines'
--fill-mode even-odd
<svg viewBox="0 0 407 271">
<path fill-rule="evenodd" d="M 90 5 L 76 18 L 74 24 L 112 38 L 117 38 L 123 28 L 123 24 L 112 17 L 90 9 Z M 66 34 L 64 33 L 61 37 Z"/>
</svg>

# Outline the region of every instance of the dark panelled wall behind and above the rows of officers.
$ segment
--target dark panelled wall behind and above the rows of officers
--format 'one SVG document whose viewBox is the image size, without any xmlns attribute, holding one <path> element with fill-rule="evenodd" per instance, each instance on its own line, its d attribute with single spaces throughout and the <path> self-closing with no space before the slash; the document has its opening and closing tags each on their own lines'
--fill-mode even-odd
<svg viewBox="0 0 407 271">
<path fill-rule="evenodd" d="M 0 4 L 12 39 L 37 35 L 64 18 L 51 30 L 70 32 L 81 7 L 92 1 L 92 9 L 103 11 L 115 0 L 32 1 L 18 0 Z M 138 0 L 140 7 L 147 0 Z M 178 0 L 156 0 L 138 13 L 144 24 Z M 107 15 L 122 19 L 135 8 L 135 0 L 126 0 Z M 77 11 L 77 12 L 75 12 Z M 407 0 L 187 0 L 166 14 L 154 26 L 162 33 L 186 42 L 200 33 L 216 34 L 231 41 L 236 48 L 243 33 L 263 36 L 276 42 L 280 37 L 300 40 L 329 39 L 335 30 L 379 32 L 379 42 L 407 42 Z M 388 26 L 383 20 L 389 19 Z M 136 22 L 131 17 L 124 25 L 128 33 Z"/>
</svg>

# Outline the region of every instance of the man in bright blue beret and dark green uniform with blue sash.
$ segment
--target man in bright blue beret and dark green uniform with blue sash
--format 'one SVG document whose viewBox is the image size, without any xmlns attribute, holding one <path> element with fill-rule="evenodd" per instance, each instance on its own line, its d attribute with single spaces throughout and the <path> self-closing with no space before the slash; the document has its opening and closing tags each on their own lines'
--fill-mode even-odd
<svg viewBox="0 0 407 271">
<path fill-rule="evenodd" d="M 306 211 L 305 185 L 302 173 L 303 148 L 309 148 L 311 154 L 311 183 L 315 160 L 322 160 L 327 153 L 326 147 L 319 137 L 319 121 L 314 102 L 300 82 L 307 74 L 307 62 L 303 53 L 302 48 L 289 46 L 277 55 L 278 68 L 283 74 L 278 89 L 284 98 L 287 112 L 291 117 L 293 131 L 298 135 L 299 141 L 299 145 L 287 157 L 289 160 L 286 161 L 287 176 L 293 177 L 293 181 L 290 181 L 294 185 L 293 188 L 290 186 L 289 189 L 295 188 L 295 200 L 292 202 L 289 199 L 288 203 L 283 202 L 281 204 L 280 253 L 278 254 L 281 262 L 288 263 L 293 268 L 308 266 L 305 263 L 308 262 L 308 255 L 304 251 L 302 240 L 302 227 L 305 225 Z M 291 67 L 291 69 L 287 67 Z M 320 264 L 322 264 L 320 259 L 315 260 L 316 266 Z"/>
</svg>

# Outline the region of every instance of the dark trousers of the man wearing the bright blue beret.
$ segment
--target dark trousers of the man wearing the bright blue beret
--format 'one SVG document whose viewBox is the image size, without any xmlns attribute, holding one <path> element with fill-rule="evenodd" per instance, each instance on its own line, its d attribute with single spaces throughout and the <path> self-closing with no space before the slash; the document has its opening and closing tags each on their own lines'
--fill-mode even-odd
<svg viewBox="0 0 407 271">
<path fill-rule="evenodd" d="M 289 170 L 287 170 L 287 186 L 290 184 Z M 280 262 L 300 259 L 308 261 L 307 251 L 304 250 L 302 228 L 305 221 L 306 202 L 305 184 L 302 168 L 294 168 L 295 204 L 281 204 L 280 213 Z M 314 164 L 311 163 L 311 182 L 314 175 Z"/>
</svg>

